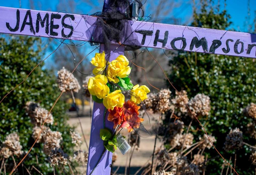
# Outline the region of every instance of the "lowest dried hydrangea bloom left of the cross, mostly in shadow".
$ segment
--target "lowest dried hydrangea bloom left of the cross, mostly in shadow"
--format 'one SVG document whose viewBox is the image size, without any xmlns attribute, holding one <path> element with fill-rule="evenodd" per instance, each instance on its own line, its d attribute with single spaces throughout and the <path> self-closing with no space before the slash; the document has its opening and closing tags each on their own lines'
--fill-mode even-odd
<svg viewBox="0 0 256 175">
<path fill-rule="evenodd" d="M 68 155 L 64 153 L 61 148 L 55 148 L 52 150 L 52 153 L 48 157 L 48 161 L 50 162 L 51 166 L 55 165 L 67 165 L 68 164 Z"/>
</svg>

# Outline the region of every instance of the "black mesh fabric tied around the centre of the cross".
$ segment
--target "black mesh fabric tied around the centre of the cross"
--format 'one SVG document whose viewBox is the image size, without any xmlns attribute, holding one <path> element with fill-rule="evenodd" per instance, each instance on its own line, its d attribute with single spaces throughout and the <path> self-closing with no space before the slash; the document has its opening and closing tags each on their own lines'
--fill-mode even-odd
<svg viewBox="0 0 256 175">
<path fill-rule="evenodd" d="M 109 0 L 104 2 L 103 12 L 97 12 L 91 16 L 96 16 L 97 20 L 86 31 L 86 36 L 92 43 L 104 43 L 104 52 L 109 55 L 111 42 L 116 42 L 125 46 L 125 50 L 136 50 L 140 48 L 137 35 L 132 31 L 131 3 L 134 0 Z M 142 3 L 139 3 L 139 8 Z M 107 60 L 108 61 L 108 60 Z"/>
</svg>

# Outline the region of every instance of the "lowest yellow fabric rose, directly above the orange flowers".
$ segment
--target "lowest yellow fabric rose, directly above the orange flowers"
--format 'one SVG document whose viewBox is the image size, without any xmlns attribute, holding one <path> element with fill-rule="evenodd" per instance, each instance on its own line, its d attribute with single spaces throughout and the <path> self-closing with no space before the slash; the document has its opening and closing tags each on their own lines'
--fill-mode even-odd
<svg viewBox="0 0 256 175">
<path fill-rule="evenodd" d="M 103 104 L 107 109 L 113 110 L 114 107 L 123 107 L 124 105 L 124 95 L 121 90 L 115 90 L 111 92 L 103 99 Z"/>
</svg>

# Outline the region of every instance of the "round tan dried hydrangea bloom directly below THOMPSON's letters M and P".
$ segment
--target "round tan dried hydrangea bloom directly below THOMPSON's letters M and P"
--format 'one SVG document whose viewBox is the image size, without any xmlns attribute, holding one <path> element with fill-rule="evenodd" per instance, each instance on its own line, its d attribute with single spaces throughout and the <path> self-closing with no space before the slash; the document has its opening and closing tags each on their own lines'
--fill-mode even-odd
<svg viewBox="0 0 256 175">
<path fill-rule="evenodd" d="M 199 93 L 188 101 L 188 106 L 196 117 L 208 116 L 211 110 L 210 97 L 203 93 Z M 194 116 L 191 112 L 188 112 L 188 115 L 193 118 Z"/>
</svg>

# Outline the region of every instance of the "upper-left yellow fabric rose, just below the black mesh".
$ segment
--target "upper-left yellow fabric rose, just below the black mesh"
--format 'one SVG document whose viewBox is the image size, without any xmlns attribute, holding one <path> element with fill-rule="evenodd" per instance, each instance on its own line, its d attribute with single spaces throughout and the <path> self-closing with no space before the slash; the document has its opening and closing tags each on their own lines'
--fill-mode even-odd
<svg viewBox="0 0 256 175">
<path fill-rule="evenodd" d="M 92 58 L 92 65 L 96 66 L 96 68 L 93 69 L 92 73 L 95 75 L 100 75 L 103 73 L 105 67 L 106 67 L 106 59 L 105 59 L 105 52 L 103 53 L 95 53 L 95 56 Z"/>
</svg>

